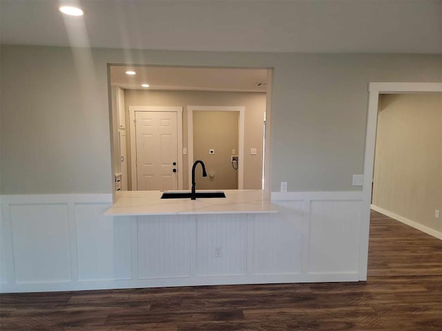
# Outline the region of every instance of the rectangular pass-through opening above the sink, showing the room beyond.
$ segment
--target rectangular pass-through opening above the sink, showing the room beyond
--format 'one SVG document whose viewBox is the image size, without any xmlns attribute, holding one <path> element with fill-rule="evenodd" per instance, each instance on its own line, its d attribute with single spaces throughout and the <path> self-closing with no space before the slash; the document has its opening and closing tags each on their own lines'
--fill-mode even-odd
<svg viewBox="0 0 442 331">
<path fill-rule="evenodd" d="M 222 168 L 208 172 L 208 184 L 222 186 L 211 189 L 269 186 L 271 68 L 108 66 L 115 190 L 189 190 L 195 157 L 211 163 L 222 150 L 229 151 L 216 162 Z M 197 152 L 195 143 L 207 140 L 201 134 L 220 131 L 222 121 L 202 116 L 204 110 L 215 115 L 217 109 L 220 115 L 230 112 L 237 122 L 227 124 L 229 130 L 217 139 L 222 145 Z M 195 113 L 200 133 L 193 131 Z M 233 138 L 236 142 L 228 143 Z"/>
</svg>

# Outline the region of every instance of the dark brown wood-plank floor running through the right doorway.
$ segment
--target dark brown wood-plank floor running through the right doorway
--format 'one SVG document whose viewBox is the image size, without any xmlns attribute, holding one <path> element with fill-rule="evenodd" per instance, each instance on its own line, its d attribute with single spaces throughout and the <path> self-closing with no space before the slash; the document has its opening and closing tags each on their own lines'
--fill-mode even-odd
<svg viewBox="0 0 442 331">
<path fill-rule="evenodd" d="M 0 330 L 442 330 L 442 241 L 372 212 L 358 283 L 0 295 Z"/>
</svg>

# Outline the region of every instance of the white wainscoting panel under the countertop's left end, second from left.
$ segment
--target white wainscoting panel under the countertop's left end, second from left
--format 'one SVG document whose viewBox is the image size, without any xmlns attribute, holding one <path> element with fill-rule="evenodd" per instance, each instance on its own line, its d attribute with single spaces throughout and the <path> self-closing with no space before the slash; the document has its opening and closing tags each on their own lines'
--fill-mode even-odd
<svg viewBox="0 0 442 331">
<path fill-rule="evenodd" d="M 108 203 L 76 203 L 78 280 L 132 279 L 131 221 L 104 216 Z"/>
</svg>

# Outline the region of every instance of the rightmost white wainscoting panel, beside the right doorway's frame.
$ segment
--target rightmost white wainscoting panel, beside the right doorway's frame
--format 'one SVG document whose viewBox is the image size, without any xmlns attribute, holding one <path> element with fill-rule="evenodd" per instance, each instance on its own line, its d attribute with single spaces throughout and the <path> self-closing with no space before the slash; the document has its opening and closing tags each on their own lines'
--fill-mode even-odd
<svg viewBox="0 0 442 331">
<path fill-rule="evenodd" d="M 361 201 L 311 201 L 309 273 L 357 272 Z"/>
</svg>

